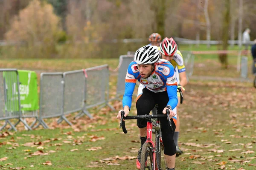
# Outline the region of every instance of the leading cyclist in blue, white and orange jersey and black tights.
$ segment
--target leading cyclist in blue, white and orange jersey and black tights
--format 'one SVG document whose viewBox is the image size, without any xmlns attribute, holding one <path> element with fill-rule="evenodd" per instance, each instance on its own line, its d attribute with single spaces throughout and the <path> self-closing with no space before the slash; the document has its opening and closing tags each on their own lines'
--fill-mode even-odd
<svg viewBox="0 0 256 170">
<path fill-rule="evenodd" d="M 137 80 L 145 86 L 145 88 L 141 88 L 136 99 L 137 115 L 149 114 L 157 104 L 159 114 L 166 114 L 166 109 L 169 109 L 170 116 L 176 119 L 178 99 L 174 68 L 169 61 L 160 59 L 157 46 L 145 45 L 139 48 L 134 54 L 134 61 L 128 67 L 125 77 L 125 94 L 122 100 L 123 110 L 121 110 L 125 112 L 125 116 L 129 114 Z M 121 111 L 118 112 L 117 119 L 121 119 Z M 168 120 L 160 118 L 164 156 L 168 170 L 175 170 L 176 146 L 173 139 L 175 130 L 173 119 L 172 131 L 168 126 Z M 147 120 L 137 119 L 137 126 L 139 127 L 142 146 L 146 141 Z M 141 147 L 137 157 L 138 169 L 140 169 L 140 156 Z"/>
</svg>

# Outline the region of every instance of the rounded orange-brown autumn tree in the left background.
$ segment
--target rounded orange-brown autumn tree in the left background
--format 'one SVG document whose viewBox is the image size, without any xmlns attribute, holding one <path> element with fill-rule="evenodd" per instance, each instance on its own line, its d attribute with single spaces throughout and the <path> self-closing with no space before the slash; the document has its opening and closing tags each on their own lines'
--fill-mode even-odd
<svg viewBox="0 0 256 170">
<path fill-rule="evenodd" d="M 12 21 L 6 40 L 25 43 L 25 57 L 51 57 L 56 52 L 59 31 L 59 18 L 52 6 L 32 0 Z"/>
</svg>

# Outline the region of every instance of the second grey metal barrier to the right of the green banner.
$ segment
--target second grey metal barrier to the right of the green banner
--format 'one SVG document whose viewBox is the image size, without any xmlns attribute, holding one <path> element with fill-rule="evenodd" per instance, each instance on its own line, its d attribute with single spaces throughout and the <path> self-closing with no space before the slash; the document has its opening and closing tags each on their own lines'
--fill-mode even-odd
<svg viewBox="0 0 256 170">
<path fill-rule="evenodd" d="M 80 111 L 79 115 L 86 114 L 90 119 L 93 116 L 85 108 L 86 105 L 86 77 L 85 70 L 67 71 L 63 73 L 64 78 L 64 104 L 63 114 Z M 75 117 L 76 118 L 76 117 Z M 60 118 L 58 123 L 63 119 Z"/>
</svg>

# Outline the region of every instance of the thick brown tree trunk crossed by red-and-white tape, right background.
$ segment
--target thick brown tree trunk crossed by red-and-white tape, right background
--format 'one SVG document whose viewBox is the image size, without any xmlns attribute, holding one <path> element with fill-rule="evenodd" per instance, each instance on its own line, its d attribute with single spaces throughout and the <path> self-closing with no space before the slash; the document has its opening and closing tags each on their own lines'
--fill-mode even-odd
<svg viewBox="0 0 256 170">
<path fill-rule="evenodd" d="M 225 9 L 223 12 L 223 25 L 222 25 L 222 50 L 228 50 L 228 29 L 230 25 L 230 0 L 225 0 Z M 227 54 L 220 54 L 219 59 L 223 68 L 227 69 L 228 60 Z"/>
</svg>

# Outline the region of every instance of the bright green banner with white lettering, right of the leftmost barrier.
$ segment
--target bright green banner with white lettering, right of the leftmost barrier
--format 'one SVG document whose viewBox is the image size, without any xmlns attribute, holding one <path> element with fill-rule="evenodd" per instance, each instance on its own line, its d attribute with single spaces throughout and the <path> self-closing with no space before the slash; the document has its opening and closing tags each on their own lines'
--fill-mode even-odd
<svg viewBox="0 0 256 170">
<path fill-rule="evenodd" d="M 18 70 L 20 79 L 21 111 L 36 111 L 38 105 L 38 87 L 35 71 Z"/>
</svg>

